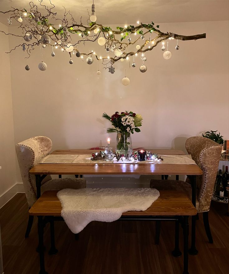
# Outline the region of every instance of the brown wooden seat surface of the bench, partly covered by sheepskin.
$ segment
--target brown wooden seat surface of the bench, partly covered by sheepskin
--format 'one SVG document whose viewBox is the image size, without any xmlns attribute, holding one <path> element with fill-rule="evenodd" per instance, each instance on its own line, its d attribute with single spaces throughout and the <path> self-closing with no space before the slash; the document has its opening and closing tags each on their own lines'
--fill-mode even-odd
<svg viewBox="0 0 229 274">
<path fill-rule="evenodd" d="M 58 191 L 46 191 L 30 208 L 29 214 L 36 216 L 61 216 Z M 184 192 L 161 190 L 159 198 L 145 211 L 127 211 L 122 216 L 174 216 L 196 215 L 196 208 Z"/>
</svg>

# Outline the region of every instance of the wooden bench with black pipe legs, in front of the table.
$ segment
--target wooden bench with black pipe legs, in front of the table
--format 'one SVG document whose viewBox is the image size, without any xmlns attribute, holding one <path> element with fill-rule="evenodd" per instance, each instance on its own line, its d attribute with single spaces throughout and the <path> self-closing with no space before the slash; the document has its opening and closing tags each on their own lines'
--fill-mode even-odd
<svg viewBox="0 0 229 274">
<path fill-rule="evenodd" d="M 54 220 L 61 218 L 61 203 L 56 196 L 57 191 L 46 191 L 36 201 L 29 210 L 30 215 L 38 217 L 38 237 L 39 237 L 39 253 L 40 253 L 40 272 L 39 274 L 47 274 L 45 271 L 43 232 L 44 223 L 50 222 L 51 249 L 50 254 L 55 254 L 54 239 Z M 122 214 L 119 220 L 152 220 L 152 221 L 175 221 L 175 249 L 174 256 L 181 255 L 179 251 L 179 222 L 182 224 L 184 231 L 184 272 L 188 274 L 188 234 L 189 224 L 188 216 L 197 214 L 192 202 L 188 196 L 182 192 L 176 191 L 160 191 L 160 197 L 146 211 L 128 211 Z M 177 225 L 178 224 L 178 225 Z"/>
</svg>

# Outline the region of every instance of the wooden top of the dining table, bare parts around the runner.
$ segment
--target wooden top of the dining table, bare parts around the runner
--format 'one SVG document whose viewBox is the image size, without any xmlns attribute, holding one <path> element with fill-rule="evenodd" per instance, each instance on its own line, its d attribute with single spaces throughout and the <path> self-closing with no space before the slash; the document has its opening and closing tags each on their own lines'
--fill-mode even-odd
<svg viewBox="0 0 229 274">
<path fill-rule="evenodd" d="M 157 154 L 184 155 L 181 150 L 149 149 Z M 51 154 L 92 154 L 98 150 L 67 149 L 55 150 Z M 114 175 L 201 175 L 197 165 L 188 164 L 37 164 L 30 169 L 31 174 L 114 174 Z"/>
</svg>

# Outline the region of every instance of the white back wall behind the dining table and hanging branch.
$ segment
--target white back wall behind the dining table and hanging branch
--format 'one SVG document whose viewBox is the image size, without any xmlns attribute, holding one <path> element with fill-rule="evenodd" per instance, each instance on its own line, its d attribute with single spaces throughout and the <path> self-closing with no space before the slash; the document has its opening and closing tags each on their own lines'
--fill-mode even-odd
<svg viewBox="0 0 229 274">
<path fill-rule="evenodd" d="M 220 130 L 229 139 L 228 25 L 228 21 L 160 24 L 164 32 L 206 32 L 207 38 L 180 41 L 179 51 L 174 48 L 176 41 L 170 41 L 170 60 L 163 59 L 157 46 L 146 55 L 146 73 L 139 71 L 140 56 L 135 59 L 136 68 L 120 62 L 114 65 L 113 75 L 103 70 L 98 77 L 98 61 L 89 66 L 74 56 L 70 65 L 67 52 L 55 50 L 56 56 L 51 57 L 51 48 L 46 47 L 43 61 L 48 69 L 39 71 L 40 49 L 35 49 L 28 61 L 21 48 L 13 51 L 15 143 L 46 135 L 52 139 L 53 149 L 104 145 L 109 123 L 101 118 L 102 113 L 122 110 L 132 110 L 144 118 L 141 133 L 132 136 L 136 147 L 184 149 L 188 137 L 206 130 Z M 219 38 L 219 30 L 225 36 Z M 22 42 L 18 39 L 10 37 L 10 46 Z M 90 46 L 79 46 L 79 50 L 105 54 L 98 44 Z M 30 71 L 24 69 L 26 64 Z M 125 69 L 129 86 L 121 84 Z M 115 134 L 110 137 L 114 146 Z"/>
</svg>

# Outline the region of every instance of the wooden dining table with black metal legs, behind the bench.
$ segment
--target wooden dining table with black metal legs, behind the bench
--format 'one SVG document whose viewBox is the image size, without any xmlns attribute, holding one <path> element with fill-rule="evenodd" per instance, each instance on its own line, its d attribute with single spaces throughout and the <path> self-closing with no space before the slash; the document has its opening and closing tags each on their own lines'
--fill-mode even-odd
<svg viewBox="0 0 229 274">
<path fill-rule="evenodd" d="M 184 155 L 182 150 L 173 149 L 147 149 L 160 155 Z M 98 150 L 65 149 L 54 150 L 51 154 L 92 154 Z M 90 164 L 36 164 L 30 169 L 30 174 L 36 176 L 37 198 L 41 196 L 41 182 L 50 174 L 82 174 L 82 175 L 187 175 L 192 186 L 192 203 L 196 206 L 196 177 L 202 174 L 197 165 L 189 164 L 138 164 L 138 163 L 97 163 Z M 195 246 L 195 222 L 196 216 L 192 216 L 192 241 L 189 254 L 198 253 Z"/>
</svg>

